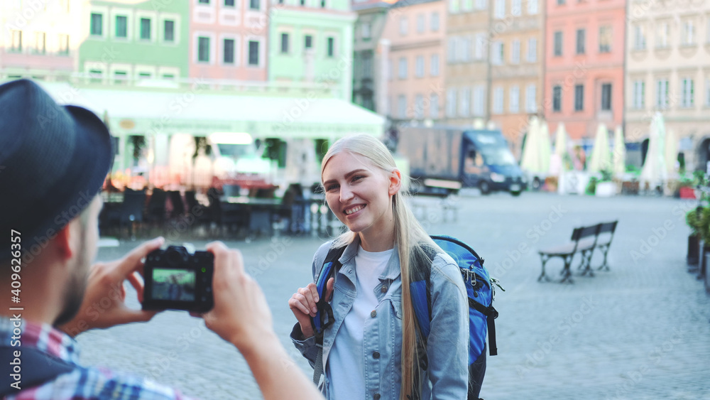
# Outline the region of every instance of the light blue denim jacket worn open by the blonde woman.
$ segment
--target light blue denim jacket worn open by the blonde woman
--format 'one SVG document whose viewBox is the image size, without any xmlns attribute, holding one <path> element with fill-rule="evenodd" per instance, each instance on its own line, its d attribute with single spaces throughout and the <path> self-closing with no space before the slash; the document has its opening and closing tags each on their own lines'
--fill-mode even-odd
<svg viewBox="0 0 710 400">
<path fill-rule="evenodd" d="M 320 274 L 331 242 L 323 244 L 313 260 L 313 280 Z M 324 380 L 320 388 L 330 399 L 330 379 L 327 360 L 338 329 L 355 299 L 355 254 L 359 240 L 346 247 L 339 261 L 342 268 L 335 277 L 333 297 L 334 323 L 323 337 Z M 374 321 L 365 323 L 363 346 L 365 350 L 366 399 L 399 399 L 402 352 L 402 282 L 399 256 L 395 251 L 379 277 L 375 288 L 379 300 L 371 313 Z M 422 400 L 466 399 L 468 388 L 469 305 L 459 268 L 448 254 L 440 253 L 432 262 L 431 273 L 432 321 L 427 340 L 428 368 L 421 371 Z M 298 323 L 293 327 L 291 340 L 303 357 L 315 364 L 318 347 L 315 337 L 303 337 Z"/>
</svg>

